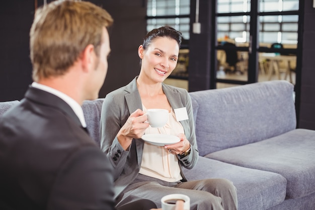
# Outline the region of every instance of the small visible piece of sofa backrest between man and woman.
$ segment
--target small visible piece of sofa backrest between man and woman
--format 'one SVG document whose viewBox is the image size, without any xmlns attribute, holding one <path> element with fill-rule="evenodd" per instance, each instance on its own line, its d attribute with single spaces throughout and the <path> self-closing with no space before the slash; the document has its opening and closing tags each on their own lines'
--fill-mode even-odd
<svg viewBox="0 0 315 210">
<path fill-rule="evenodd" d="M 104 99 L 96 99 L 93 101 L 84 101 L 82 105 L 84 117 L 86 119 L 87 128 L 91 137 L 101 147 L 100 141 L 100 120 Z"/>
</svg>

